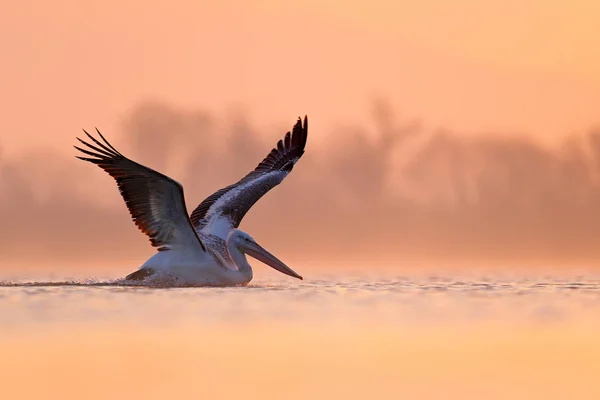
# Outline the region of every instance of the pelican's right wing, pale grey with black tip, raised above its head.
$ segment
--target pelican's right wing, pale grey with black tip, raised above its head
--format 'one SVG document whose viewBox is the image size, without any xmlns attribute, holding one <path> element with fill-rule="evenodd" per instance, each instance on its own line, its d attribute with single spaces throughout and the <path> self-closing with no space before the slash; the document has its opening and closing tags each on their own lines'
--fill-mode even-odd
<svg viewBox="0 0 600 400">
<path fill-rule="evenodd" d="M 240 225 L 254 203 L 280 184 L 294 168 L 304 154 L 307 133 L 307 117 L 304 117 L 304 125 L 298 118 L 292 133 L 287 132 L 254 171 L 218 190 L 196 207 L 191 215 L 192 225 L 197 230 L 226 238 L 231 229 Z"/>
</svg>

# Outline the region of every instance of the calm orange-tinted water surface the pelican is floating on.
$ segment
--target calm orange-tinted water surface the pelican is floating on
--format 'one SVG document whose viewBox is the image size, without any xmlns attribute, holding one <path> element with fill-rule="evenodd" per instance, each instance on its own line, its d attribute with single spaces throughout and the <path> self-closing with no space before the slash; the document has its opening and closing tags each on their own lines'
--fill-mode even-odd
<svg viewBox="0 0 600 400">
<path fill-rule="evenodd" d="M 5 281 L 0 315 L 6 398 L 600 398 L 590 276 Z"/>
</svg>

